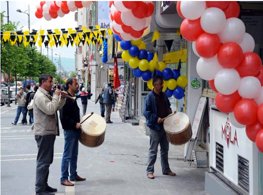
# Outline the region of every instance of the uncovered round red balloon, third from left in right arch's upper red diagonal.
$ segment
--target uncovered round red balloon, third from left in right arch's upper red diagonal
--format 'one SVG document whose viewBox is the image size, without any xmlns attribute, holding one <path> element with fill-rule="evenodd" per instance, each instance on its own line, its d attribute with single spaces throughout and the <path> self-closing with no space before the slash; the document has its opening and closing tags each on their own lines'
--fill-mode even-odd
<svg viewBox="0 0 263 195">
<path fill-rule="evenodd" d="M 232 69 L 237 67 L 243 58 L 243 51 L 241 47 L 234 42 L 228 42 L 223 44 L 218 53 L 218 62 L 227 69 Z"/>
</svg>

